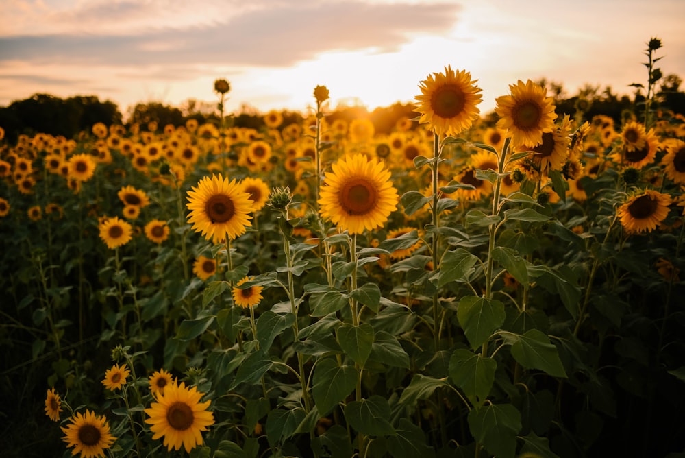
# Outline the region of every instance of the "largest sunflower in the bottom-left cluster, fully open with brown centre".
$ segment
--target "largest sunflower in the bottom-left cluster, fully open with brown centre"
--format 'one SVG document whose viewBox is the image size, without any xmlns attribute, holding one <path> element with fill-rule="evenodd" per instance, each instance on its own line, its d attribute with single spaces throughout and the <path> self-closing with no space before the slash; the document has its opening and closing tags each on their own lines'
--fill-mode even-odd
<svg viewBox="0 0 685 458">
<path fill-rule="evenodd" d="M 214 414 L 207 410 L 210 401 L 200 402 L 204 393 L 196 387 L 186 388 L 184 383 L 171 383 L 164 387 L 164 393 L 157 394 L 145 413 L 145 422 L 154 433 L 152 439 L 164 437 L 167 450 L 179 450 L 184 446 L 186 452 L 202 444 L 201 431 L 214 424 Z"/>
</svg>

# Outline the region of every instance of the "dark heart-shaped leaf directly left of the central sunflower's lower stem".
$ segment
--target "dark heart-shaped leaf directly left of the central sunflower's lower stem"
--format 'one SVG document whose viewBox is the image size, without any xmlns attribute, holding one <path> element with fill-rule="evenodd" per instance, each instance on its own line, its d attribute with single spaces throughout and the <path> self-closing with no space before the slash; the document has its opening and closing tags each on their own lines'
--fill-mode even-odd
<svg viewBox="0 0 685 458">
<path fill-rule="evenodd" d="M 325 417 L 338 402 L 344 400 L 357 385 L 359 373 L 350 365 L 338 365 L 333 358 L 325 358 L 316 364 L 312 395 L 319 413 Z"/>
</svg>

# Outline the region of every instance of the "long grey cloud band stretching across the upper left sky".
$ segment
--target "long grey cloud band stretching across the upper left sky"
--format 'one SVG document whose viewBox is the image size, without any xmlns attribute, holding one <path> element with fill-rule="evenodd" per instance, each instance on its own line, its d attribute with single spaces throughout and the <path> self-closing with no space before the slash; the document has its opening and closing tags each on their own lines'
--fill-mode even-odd
<svg viewBox="0 0 685 458">
<path fill-rule="evenodd" d="M 446 33 L 456 22 L 459 10 L 460 6 L 453 3 L 271 1 L 256 3 L 239 16 L 190 27 L 173 21 L 155 23 L 155 18 L 148 18 L 143 31 L 138 29 L 124 36 L 99 34 L 95 27 L 88 34 L 5 36 L 0 38 L 0 62 L 288 67 L 332 50 L 392 51 L 416 34 Z M 128 1 L 111 6 L 99 4 L 81 13 L 86 23 L 140 14 Z"/>
</svg>

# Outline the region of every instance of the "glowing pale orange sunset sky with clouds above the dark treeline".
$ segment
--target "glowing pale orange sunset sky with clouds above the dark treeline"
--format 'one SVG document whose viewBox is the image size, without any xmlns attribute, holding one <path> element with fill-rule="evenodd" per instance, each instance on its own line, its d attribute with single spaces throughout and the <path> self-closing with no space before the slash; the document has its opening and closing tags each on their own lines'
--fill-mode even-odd
<svg viewBox="0 0 685 458">
<path fill-rule="evenodd" d="M 151 101 L 227 112 L 408 103 L 449 64 L 482 88 L 482 112 L 520 80 L 632 94 L 658 37 L 685 78 L 685 0 L 3 0 L 0 106 L 34 93 L 97 95 L 123 113 Z M 682 88 L 683 89 L 683 88 Z"/>
</svg>

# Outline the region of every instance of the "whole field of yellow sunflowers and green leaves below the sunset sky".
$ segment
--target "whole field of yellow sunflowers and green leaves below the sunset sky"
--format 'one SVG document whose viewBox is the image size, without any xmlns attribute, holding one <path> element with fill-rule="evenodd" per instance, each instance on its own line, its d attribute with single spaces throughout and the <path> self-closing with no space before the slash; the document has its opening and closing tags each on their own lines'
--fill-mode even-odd
<svg viewBox="0 0 685 458">
<path fill-rule="evenodd" d="M 684 457 L 685 117 L 417 82 L 389 134 L 0 144 L 3 456 Z M 3 131 L 0 131 L 0 136 Z"/>
</svg>

